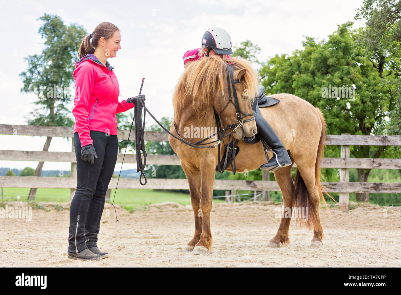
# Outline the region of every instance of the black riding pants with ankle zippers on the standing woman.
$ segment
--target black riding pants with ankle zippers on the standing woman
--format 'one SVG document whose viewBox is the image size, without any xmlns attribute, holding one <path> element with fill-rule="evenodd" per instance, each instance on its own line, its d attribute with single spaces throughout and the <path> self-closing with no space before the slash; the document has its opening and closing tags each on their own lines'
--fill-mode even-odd
<svg viewBox="0 0 401 295">
<path fill-rule="evenodd" d="M 74 133 L 77 157 L 77 191 L 70 207 L 68 252 L 97 246 L 105 195 L 117 161 L 117 135 L 90 131 L 97 159 L 91 164 L 81 159 L 81 141 Z"/>
</svg>

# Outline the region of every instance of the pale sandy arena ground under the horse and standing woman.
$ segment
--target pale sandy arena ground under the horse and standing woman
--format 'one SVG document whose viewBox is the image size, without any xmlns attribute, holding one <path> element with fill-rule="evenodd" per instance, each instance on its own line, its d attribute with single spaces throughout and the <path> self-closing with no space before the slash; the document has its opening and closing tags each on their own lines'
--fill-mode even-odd
<svg viewBox="0 0 401 295">
<path fill-rule="evenodd" d="M 313 233 L 297 228 L 294 219 L 290 244 L 269 248 L 281 205 L 215 203 L 212 252 L 194 255 L 182 251 L 194 233 L 190 205 L 154 204 L 133 214 L 116 206 L 116 223 L 107 203 L 97 245 L 110 257 L 100 261 L 68 259 L 69 210 L 45 207 L 51 211 L 32 210 L 31 222 L 0 219 L 1 267 L 401 267 L 400 207 L 363 204 L 349 212 L 332 208 L 331 215 L 321 210 L 322 248 L 309 247 Z"/>
</svg>

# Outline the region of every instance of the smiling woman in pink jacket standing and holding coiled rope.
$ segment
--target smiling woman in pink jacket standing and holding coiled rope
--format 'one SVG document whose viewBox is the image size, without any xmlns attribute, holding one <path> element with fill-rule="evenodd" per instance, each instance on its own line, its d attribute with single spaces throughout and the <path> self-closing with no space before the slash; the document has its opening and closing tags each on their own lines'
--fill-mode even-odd
<svg viewBox="0 0 401 295">
<path fill-rule="evenodd" d="M 68 258 L 100 260 L 108 256 L 97 248 L 105 195 L 117 161 L 115 114 L 134 107 L 138 96 L 118 101 L 119 87 L 107 59 L 116 57 L 119 28 L 99 24 L 86 36 L 75 62 L 74 145 L 77 157 L 77 191 L 70 208 Z M 144 99 L 145 96 L 142 95 Z"/>
</svg>

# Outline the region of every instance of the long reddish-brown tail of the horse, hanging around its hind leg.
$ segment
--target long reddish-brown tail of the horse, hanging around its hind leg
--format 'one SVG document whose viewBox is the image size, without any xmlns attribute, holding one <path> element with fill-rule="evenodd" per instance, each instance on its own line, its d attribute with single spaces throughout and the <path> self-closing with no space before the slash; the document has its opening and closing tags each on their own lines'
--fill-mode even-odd
<svg viewBox="0 0 401 295">
<path fill-rule="evenodd" d="M 318 151 L 316 154 L 316 163 L 315 163 L 315 183 L 316 183 L 316 188 L 318 189 L 320 199 L 323 201 L 324 206 L 326 207 L 327 210 L 328 206 L 326 203 L 326 200 L 324 199 L 323 193 L 330 196 L 326 189 L 324 189 L 321 181 L 320 181 L 320 160 L 324 151 L 324 146 L 325 141 L 326 141 L 326 121 L 324 120 L 324 116 L 322 112 L 318 108 L 316 108 L 316 111 L 319 114 L 320 122 L 322 122 L 322 131 L 320 133 L 320 140 L 319 140 L 319 145 L 318 145 Z M 313 210 L 313 204 L 312 202 L 308 201 L 308 190 L 306 189 L 306 185 L 304 183 L 304 179 L 302 179 L 302 176 L 297 169 L 296 171 L 296 176 L 295 176 L 295 201 L 296 201 L 296 207 L 297 208 L 308 208 L 308 220 L 304 222 L 304 224 L 309 228 L 312 229 L 316 227 L 318 224 L 318 216 L 316 216 L 315 211 Z M 333 198 L 332 198 L 333 199 Z M 334 199 L 333 199 L 334 200 Z M 330 212 L 330 211 L 329 211 Z M 301 221 L 300 218 L 297 218 L 297 221 Z M 301 222 L 302 224 L 302 222 Z"/>
</svg>

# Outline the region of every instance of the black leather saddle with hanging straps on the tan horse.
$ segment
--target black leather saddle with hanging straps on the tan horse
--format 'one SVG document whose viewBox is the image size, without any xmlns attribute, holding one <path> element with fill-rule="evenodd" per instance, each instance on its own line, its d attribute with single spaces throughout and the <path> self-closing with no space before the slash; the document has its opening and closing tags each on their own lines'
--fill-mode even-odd
<svg viewBox="0 0 401 295">
<path fill-rule="evenodd" d="M 252 104 L 252 110 L 255 113 L 259 114 L 259 115 L 260 115 L 259 108 L 267 108 L 269 106 L 274 106 L 275 104 L 278 104 L 280 102 L 279 100 L 277 100 L 277 99 L 275 99 L 273 97 L 266 96 L 265 87 L 262 86 L 262 85 L 259 85 L 258 96 L 259 96 L 259 98 L 257 100 L 255 100 L 255 102 Z M 247 144 L 255 144 L 255 143 L 259 142 L 259 141 L 262 141 L 262 144 L 263 144 L 265 150 L 269 150 L 270 149 L 269 146 L 267 146 L 267 144 L 265 143 L 265 141 L 261 140 L 261 138 L 257 134 L 253 138 L 245 138 L 243 140 L 243 142 L 245 142 Z M 231 166 L 233 166 L 233 174 L 235 175 L 235 160 L 234 160 L 234 158 L 239 153 L 239 146 L 237 146 L 238 140 L 234 141 L 234 138 L 233 138 L 233 142 L 232 143 L 234 144 L 234 145 L 232 145 L 233 147 L 230 147 L 228 153 L 225 153 L 223 155 L 223 159 L 221 159 L 221 161 L 219 163 L 220 165 L 216 166 L 216 171 L 219 171 L 219 166 L 223 167 L 223 171 L 224 171 L 225 169 L 227 169 L 227 167 L 229 167 L 231 165 Z M 226 155 L 227 155 L 227 162 L 226 162 L 226 165 L 224 167 L 224 163 L 226 161 Z M 234 162 L 234 165 L 233 165 L 233 162 Z M 221 172 L 221 173 L 223 173 L 223 172 Z"/>
</svg>

